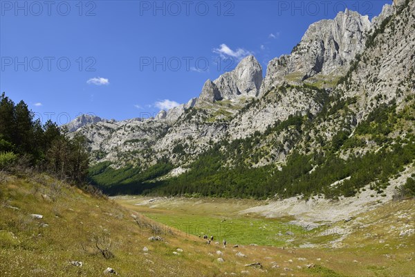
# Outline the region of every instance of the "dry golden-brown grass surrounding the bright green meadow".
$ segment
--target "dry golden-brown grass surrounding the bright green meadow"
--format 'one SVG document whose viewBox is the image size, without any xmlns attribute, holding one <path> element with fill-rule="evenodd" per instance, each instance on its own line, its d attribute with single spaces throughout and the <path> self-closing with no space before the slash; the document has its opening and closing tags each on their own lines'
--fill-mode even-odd
<svg viewBox="0 0 415 277">
<path fill-rule="evenodd" d="M 8 176 L 0 183 L 0 276 L 103 276 L 107 267 L 116 269 L 120 276 L 245 275 L 242 271 L 248 271 L 248 276 L 415 274 L 414 235 L 399 237 L 398 231 L 391 230 L 391 226 L 413 226 L 413 215 L 399 216 L 414 213 L 414 200 L 386 204 L 360 215 L 361 222 L 371 225 L 362 228 L 363 235 L 347 236 L 338 249 L 327 244 L 332 238 L 317 233 L 311 233 L 313 238 L 295 237 L 287 243 L 290 247 L 284 249 L 249 245 L 223 248 L 221 244 L 207 245 L 197 236 L 157 224 L 142 215 L 156 211 L 180 215 L 185 220 L 186 215 L 209 213 L 212 217 L 227 215 L 232 220 L 241 217 L 237 211 L 258 204 L 225 199 L 215 199 L 212 204 L 209 199 L 210 203 L 201 203 L 200 209 L 199 205 L 194 206 L 202 200 L 181 199 L 175 202 L 176 206 L 166 202 L 156 211 L 148 206 L 133 206 L 125 199 L 120 199 L 120 206 L 113 200 L 91 197 L 46 175 Z M 33 213 L 44 217 L 34 219 L 30 216 Z M 210 220 L 209 216 L 206 218 Z M 342 224 L 339 222 L 338 226 Z M 163 241 L 149 242 L 151 235 L 160 235 Z M 311 239 L 320 246 L 295 247 Z M 104 258 L 96 242 L 101 249 L 108 247 L 115 257 Z M 143 247 L 149 251 L 143 252 Z M 183 252 L 175 255 L 178 248 Z M 236 256 L 239 251 L 246 257 Z M 218 262 L 217 258 L 225 262 Z M 75 267 L 70 265 L 71 260 L 84 265 Z M 252 262 L 260 262 L 262 268 L 245 267 Z M 310 264 L 315 266 L 307 268 Z"/>
</svg>

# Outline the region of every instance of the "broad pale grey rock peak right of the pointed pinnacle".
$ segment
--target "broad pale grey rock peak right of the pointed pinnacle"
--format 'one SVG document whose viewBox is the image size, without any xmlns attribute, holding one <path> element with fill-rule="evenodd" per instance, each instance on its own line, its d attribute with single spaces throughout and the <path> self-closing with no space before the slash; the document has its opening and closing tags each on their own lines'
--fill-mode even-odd
<svg viewBox="0 0 415 277">
<path fill-rule="evenodd" d="M 319 73 L 342 75 L 341 69 L 362 52 L 369 30 L 369 18 L 351 10 L 311 24 L 291 55 L 269 62 L 260 94 L 284 81 L 297 84 Z"/>
</svg>

